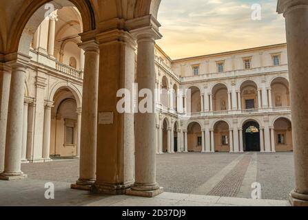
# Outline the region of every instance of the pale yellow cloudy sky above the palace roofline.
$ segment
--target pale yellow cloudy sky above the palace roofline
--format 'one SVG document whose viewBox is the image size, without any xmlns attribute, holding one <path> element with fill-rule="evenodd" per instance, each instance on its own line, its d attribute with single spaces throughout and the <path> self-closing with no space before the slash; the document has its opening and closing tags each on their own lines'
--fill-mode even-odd
<svg viewBox="0 0 308 220">
<path fill-rule="evenodd" d="M 251 5 L 261 5 L 260 21 Z M 158 45 L 173 59 L 285 43 L 277 0 L 162 0 Z"/>
</svg>

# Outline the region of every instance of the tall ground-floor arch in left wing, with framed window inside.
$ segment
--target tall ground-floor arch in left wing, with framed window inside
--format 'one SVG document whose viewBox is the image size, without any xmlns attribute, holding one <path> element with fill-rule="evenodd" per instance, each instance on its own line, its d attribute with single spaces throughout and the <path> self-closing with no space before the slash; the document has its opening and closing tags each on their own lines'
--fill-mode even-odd
<svg viewBox="0 0 308 220">
<path fill-rule="evenodd" d="M 78 154 L 77 102 L 70 89 L 62 87 L 54 94 L 52 108 L 50 155 L 75 157 Z"/>
</svg>

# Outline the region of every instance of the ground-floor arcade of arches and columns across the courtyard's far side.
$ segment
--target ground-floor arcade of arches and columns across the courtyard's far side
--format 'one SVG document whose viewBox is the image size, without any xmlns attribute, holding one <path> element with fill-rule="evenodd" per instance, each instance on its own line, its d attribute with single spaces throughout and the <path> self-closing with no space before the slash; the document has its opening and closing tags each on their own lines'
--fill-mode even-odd
<svg viewBox="0 0 308 220">
<path fill-rule="evenodd" d="M 244 153 L 293 151 L 291 115 L 176 120 L 161 115 L 157 153 Z"/>
</svg>

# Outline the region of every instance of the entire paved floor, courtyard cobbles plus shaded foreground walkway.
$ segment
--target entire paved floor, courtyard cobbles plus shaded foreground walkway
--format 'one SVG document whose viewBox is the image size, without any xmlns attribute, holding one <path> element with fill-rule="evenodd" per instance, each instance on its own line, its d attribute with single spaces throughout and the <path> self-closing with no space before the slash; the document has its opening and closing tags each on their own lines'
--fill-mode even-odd
<svg viewBox="0 0 308 220">
<path fill-rule="evenodd" d="M 294 188 L 292 153 L 158 155 L 157 180 L 165 193 L 154 199 L 70 190 L 79 176 L 76 159 L 22 164 L 22 170 L 28 179 L 0 181 L 0 206 L 287 206 Z M 45 200 L 46 182 L 54 183 L 56 199 Z M 251 199 L 254 182 L 260 183 L 266 201 Z"/>
</svg>

